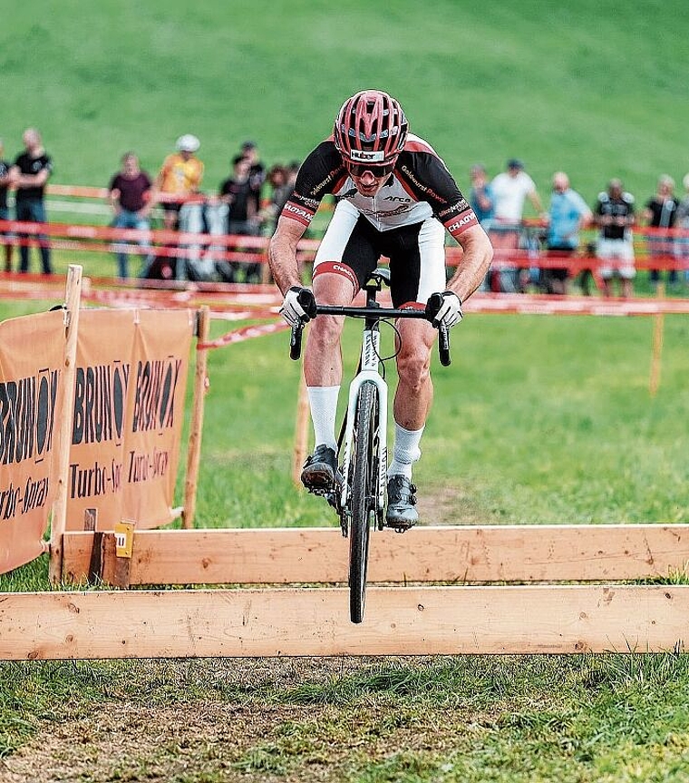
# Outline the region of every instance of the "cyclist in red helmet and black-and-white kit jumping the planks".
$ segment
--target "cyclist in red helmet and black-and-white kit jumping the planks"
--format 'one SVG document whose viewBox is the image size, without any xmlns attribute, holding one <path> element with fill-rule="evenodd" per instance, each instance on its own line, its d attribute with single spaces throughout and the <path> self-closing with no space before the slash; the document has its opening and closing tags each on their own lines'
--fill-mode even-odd
<svg viewBox="0 0 689 783">
<path fill-rule="evenodd" d="M 308 289 L 300 278 L 296 246 L 326 193 L 338 202 L 315 255 L 313 289 Z M 444 230 L 463 249 L 449 283 Z M 308 319 L 316 300 L 351 304 L 381 256 L 390 259 L 393 306 L 425 308 L 431 295 L 440 292 L 437 321 L 452 327 L 462 318 L 462 302 L 488 271 L 492 248 L 441 158 L 428 142 L 408 132 L 400 104 L 388 93 L 365 90 L 343 103 L 333 135 L 306 157 L 270 241 L 270 269 L 285 298 L 283 318 L 289 324 Z M 315 452 L 301 478 L 310 490 L 331 489 L 337 474 L 335 416 L 343 323 L 340 317 L 316 318 L 306 341 L 304 373 Z M 418 520 L 412 464 L 421 456 L 432 403 L 429 369 L 436 330 L 422 319 L 401 319 L 397 328 L 399 382 L 386 524 L 405 529 Z"/>
</svg>

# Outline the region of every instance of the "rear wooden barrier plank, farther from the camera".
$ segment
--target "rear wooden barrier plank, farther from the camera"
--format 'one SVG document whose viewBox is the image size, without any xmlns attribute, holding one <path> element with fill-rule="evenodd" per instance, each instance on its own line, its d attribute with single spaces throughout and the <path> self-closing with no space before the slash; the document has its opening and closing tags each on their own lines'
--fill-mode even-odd
<svg viewBox="0 0 689 783">
<path fill-rule="evenodd" d="M 65 576 L 85 579 L 92 533 L 67 533 Z M 131 584 L 346 582 L 339 528 L 135 533 Z M 370 582 L 609 581 L 689 563 L 687 524 L 466 525 L 374 533 Z M 103 579 L 114 563 L 105 558 Z"/>
</svg>

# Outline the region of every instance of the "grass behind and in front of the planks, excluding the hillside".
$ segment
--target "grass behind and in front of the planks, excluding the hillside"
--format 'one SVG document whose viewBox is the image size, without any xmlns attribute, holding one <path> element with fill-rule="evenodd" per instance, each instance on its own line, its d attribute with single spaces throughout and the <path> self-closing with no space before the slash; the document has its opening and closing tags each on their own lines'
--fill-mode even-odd
<svg viewBox="0 0 689 783">
<path fill-rule="evenodd" d="M 226 328 L 214 323 L 213 335 Z M 650 319 L 466 318 L 453 331 L 451 367 L 433 369 L 435 404 L 415 475 L 437 518 L 424 521 L 689 521 L 688 329 L 685 318 L 665 318 L 662 383 L 651 399 Z M 358 328 L 347 330 L 347 372 L 357 338 Z M 209 373 L 198 523 L 335 524 L 323 502 L 291 484 L 298 366 L 285 334 L 212 351 Z M 393 386 L 392 367 L 389 379 Z M 0 577 L 0 590 L 38 590 L 46 579 L 40 559 Z M 4 663 L 0 757 L 10 769 L 24 758 L 40 764 L 39 749 L 58 731 L 64 745 L 54 763 L 66 759 L 82 783 L 679 783 L 689 764 L 687 661 Z M 177 712 L 189 725 L 170 735 Z M 106 724 L 132 715 L 141 716 L 138 739 L 121 758 Z M 228 734 L 228 720 L 242 729 Z"/>
</svg>

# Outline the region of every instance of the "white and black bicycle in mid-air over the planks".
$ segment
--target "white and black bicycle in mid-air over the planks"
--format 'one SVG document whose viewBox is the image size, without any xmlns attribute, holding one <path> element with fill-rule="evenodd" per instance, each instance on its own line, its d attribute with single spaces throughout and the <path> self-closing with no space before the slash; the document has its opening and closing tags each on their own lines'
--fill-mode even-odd
<svg viewBox="0 0 689 783">
<path fill-rule="evenodd" d="M 365 307 L 316 305 L 319 315 L 364 318 L 361 356 L 356 375 L 349 386 L 345 417 L 340 428 L 337 454 L 344 455 L 332 490 L 312 490 L 325 496 L 335 508 L 342 534 L 349 538 L 349 612 L 352 622 L 364 619 L 366 571 L 370 530 L 383 530 L 385 491 L 387 483 L 387 384 L 379 367 L 393 358 L 381 357 L 380 322 L 389 318 L 433 319 L 442 306 L 442 295 L 434 295 L 423 310 L 412 308 L 382 308 L 376 296 L 390 283 L 389 269 L 378 268 L 371 274 L 364 289 Z M 305 320 L 292 328 L 290 357 L 301 356 L 302 332 Z M 394 328 L 394 326 L 393 326 Z M 443 367 L 450 365 L 450 338 L 442 324 L 438 349 Z M 384 365 L 383 365 L 384 367 Z M 345 448 L 343 449 L 343 443 Z M 397 528 L 403 533 L 406 527 Z"/>
</svg>

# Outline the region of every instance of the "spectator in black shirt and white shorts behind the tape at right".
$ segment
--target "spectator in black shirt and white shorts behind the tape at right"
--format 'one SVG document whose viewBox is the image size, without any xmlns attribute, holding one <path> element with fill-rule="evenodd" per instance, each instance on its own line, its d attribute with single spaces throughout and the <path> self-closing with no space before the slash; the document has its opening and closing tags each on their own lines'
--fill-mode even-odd
<svg viewBox="0 0 689 783">
<path fill-rule="evenodd" d="M 603 294 L 612 293 L 610 280 L 617 275 L 621 294 L 626 299 L 632 296 L 632 280 L 636 276 L 632 226 L 635 221 L 634 196 L 622 190 L 621 180 L 610 180 L 607 191 L 598 194 L 594 210 L 596 225 L 600 230 L 597 242 L 597 256 L 601 264 L 600 278 Z"/>
</svg>

